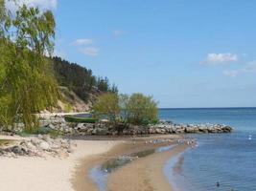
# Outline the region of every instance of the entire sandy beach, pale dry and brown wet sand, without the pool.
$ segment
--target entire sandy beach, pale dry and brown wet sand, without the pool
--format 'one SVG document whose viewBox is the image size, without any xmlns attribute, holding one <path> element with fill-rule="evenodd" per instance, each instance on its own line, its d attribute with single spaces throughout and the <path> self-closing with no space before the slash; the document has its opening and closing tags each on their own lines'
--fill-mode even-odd
<svg viewBox="0 0 256 191">
<path fill-rule="evenodd" d="M 21 137 L 0 137 L 20 139 Z M 146 141 L 168 138 L 168 142 L 146 144 Z M 97 191 L 97 185 L 88 176 L 89 170 L 108 159 L 124 154 L 149 150 L 176 142 L 179 136 L 145 138 L 112 138 L 102 140 L 71 140 L 74 152 L 66 158 L 18 157 L 0 158 L 0 190 L 2 191 Z M 21 138 L 22 139 L 22 138 Z M 25 138 L 26 139 L 26 138 Z M 166 159 L 186 149 L 186 144 L 172 150 L 136 159 L 117 169 L 108 177 L 109 191 L 171 190 L 163 175 Z"/>
</svg>

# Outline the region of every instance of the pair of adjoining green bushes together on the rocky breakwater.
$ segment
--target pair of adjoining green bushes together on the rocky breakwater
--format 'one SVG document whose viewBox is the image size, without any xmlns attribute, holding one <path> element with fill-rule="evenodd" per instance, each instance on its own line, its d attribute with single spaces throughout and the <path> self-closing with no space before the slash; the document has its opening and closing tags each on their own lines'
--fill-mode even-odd
<svg viewBox="0 0 256 191">
<path fill-rule="evenodd" d="M 128 95 L 104 94 L 93 106 L 96 116 L 105 116 L 112 122 L 149 124 L 157 121 L 157 102 L 152 96 L 140 93 Z"/>
</svg>

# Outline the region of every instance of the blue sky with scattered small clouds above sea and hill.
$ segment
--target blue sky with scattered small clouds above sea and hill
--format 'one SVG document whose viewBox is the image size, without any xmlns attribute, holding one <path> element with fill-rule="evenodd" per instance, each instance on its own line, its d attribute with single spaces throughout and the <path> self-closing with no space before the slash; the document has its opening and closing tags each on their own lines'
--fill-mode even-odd
<svg viewBox="0 0 256 191">
<path fill-rule="evenodd" d="M 22 0 L 54 11 L 55 54 L 159 107 L 256 106 L 254 0 Z"/>
</svg>

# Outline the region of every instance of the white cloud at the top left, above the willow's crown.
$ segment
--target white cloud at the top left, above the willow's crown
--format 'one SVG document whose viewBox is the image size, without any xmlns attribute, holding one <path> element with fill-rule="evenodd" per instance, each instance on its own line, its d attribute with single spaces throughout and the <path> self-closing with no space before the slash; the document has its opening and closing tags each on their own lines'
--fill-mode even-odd
<svg viewBox="0 0 256 191">
<path fill-rule="evenodd" d="M 6 8 L 10 11 L 16 11 L 17 6 L 27 5 L 28 7 L 38 7 L 40 10 L 56 10 L 58 0 L 7 0 Z"/>
</svg>

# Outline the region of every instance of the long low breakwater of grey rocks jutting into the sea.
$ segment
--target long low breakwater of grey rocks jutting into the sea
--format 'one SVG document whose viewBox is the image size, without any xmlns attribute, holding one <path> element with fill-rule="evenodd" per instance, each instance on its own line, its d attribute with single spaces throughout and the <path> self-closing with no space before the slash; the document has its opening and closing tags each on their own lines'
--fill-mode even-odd
<svg viewBox="0 0 256 191">
<path fill-rule="evenodd" d="M 65 135 L 80 136 L 116 136 L 116 135 L 151 135 L 151 134 L 214 134 L 231 133 L 232 127 L 223 124 L 176 124 L 160 121 L 151 125 L 111 124 L 107 121 L 98 123 L 69 123 L 64 120 L 53 121 L 45 127 L 58 130 Z"/>
</svg>

